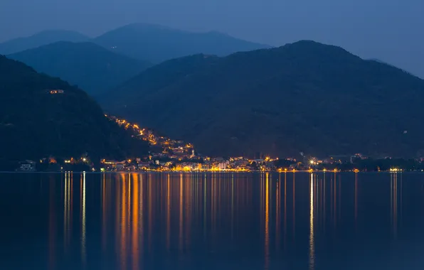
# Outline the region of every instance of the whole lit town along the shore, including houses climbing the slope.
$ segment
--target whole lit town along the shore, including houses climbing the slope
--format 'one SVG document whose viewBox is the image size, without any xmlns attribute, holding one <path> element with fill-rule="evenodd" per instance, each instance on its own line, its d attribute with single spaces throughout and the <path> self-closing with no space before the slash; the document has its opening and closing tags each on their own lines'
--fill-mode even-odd
<svg viewBox="0 0 424 270">
<path fill-rule="evenodd" d="M 90 156 L 70 157 L 60 160 L 49 157 L 40 161 L 22 161 L 16 171 L 176 171 L 176 172 L 300 172 L 300 171 L 424 171 L 424 159 L 401 159 L 384 157 L 373 159 L 355 153 L 317 158 L 300 153 L 302 158 L 271 157 L 255 158 L 211 157 L 199 155 L 193 144 L 181 140 L 157 136 L 154 131 L 141 128 L 125 119 L 105 115 L 111 121 L 130 131 L 137 139 L 147 141 L 148 155 L 124 160 L 102 158 L 92 161 Z"/>
</svg>

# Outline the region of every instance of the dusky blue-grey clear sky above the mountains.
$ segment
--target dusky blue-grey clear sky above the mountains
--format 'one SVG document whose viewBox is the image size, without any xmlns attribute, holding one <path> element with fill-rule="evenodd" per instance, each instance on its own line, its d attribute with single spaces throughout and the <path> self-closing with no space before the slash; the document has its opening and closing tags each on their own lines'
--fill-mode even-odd
<svg viewBox="0 0 424 270">
<path fill-rule="evenodd" d="M 423 11 L 423 0 L 0 0 L 0 42 L 48 29 L 97 36 L 157 23 L 268 45 L 339 45 L 424 77 Z"/>
</svg>

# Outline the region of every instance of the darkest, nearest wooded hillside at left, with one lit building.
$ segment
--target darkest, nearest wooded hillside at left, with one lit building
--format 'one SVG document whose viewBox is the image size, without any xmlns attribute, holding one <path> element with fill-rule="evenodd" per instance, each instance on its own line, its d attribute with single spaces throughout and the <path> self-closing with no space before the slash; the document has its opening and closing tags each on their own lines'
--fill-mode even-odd
<svg viewBox="0 0 424 270">
<path fill-rule="evenodd" d="M 53 90 L 53 92 L 51 92 Z M 0 160 L 124 158 L 147 145 L 105 117 L 83 90 L 0 56 Z M 99 159 L 97 159 L 99 160 Z"/>
</svg>

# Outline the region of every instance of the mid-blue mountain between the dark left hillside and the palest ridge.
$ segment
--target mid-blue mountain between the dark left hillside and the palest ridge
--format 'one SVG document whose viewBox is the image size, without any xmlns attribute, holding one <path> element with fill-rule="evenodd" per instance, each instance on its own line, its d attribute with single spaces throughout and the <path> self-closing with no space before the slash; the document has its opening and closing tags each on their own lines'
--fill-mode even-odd
<svg viewBox="0 0 424 270">
<path fill-rule="evenodd" d="M 94 43 L 60 41 L 8 55 L 38 72 L 60 77 L 97 95 L 122 84 L 151 64 L 113 53 Z"/>
</svg>

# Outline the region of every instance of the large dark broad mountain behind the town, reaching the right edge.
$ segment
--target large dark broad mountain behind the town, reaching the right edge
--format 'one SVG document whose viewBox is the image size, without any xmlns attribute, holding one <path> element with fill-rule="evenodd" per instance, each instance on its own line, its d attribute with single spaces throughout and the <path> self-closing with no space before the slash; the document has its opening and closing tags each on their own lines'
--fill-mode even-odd
<svg viewBox="0 0 424 270">
<path fill-rule="evenodd" d="M 201 153 L 423 156 L 424 81 L 346 50 L 299 41 L 142 72 L 105 109 Z"/>
</svg>

